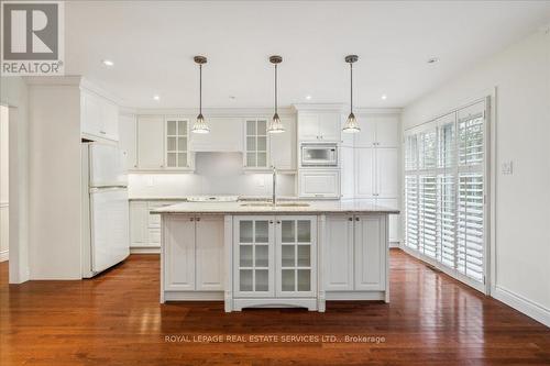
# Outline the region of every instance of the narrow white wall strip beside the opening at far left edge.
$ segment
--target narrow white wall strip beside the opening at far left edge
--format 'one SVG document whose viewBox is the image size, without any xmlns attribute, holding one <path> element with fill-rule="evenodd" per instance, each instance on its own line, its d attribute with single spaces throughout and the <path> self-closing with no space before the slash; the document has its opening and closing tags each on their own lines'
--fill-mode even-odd
<svg viewBox="0 0 550 366">
<path fill-rule="evenodd" d="M 29 279 L 29 90 L 20 77 L 2 77 L 1 102 L 10 121 L 10 284 Z"/>
</svg>

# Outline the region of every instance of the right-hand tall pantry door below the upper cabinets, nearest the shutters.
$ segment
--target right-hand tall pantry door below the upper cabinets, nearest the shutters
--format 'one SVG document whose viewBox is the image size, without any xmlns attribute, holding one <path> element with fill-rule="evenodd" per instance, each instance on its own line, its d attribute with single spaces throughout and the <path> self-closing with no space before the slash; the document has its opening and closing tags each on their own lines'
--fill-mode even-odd
<svg viewBox="0 0 550 366">
<path fill-rule="evenodd" d="M 376 197 L 399 197 L 399 151 L 376 148 Z"/>
</svg>

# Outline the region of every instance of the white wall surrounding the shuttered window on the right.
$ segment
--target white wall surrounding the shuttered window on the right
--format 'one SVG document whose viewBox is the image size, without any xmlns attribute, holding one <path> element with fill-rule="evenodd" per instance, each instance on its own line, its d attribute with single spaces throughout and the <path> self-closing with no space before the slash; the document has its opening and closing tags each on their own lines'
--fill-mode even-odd
<svg viewBox="0 0 550 366">
<path fill-rule="evenodd" d="M 495 87 L 492 295 L 550 325 L 550 31 L 539 30 L 407 106 L 403 124 L 427 122 Z M 503 176 L 507 160 L 514 174 Z"/>
</svg>

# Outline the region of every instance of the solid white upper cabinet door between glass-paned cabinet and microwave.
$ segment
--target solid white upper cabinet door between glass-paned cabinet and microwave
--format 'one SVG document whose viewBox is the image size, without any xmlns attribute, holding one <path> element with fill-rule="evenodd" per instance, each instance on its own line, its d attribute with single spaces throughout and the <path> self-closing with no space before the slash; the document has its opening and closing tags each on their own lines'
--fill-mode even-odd
<svg viewBox="0 0 550 366">
<path fill-rule="evenodd" d="M 272 133 L 268 136 L 270 166 L 279 170 L 296 169 L 296 122 L 294 119 L 282 118 L 285 126 L 283 133 Z"/>
</svg>

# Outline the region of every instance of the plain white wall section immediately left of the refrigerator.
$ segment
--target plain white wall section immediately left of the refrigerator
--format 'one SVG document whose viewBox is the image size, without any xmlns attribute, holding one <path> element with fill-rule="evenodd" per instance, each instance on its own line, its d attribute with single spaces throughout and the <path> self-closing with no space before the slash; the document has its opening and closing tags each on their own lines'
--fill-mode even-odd
<svg viewBox="0 0 550 366">
<path fill-rule="evenodd" d="M 80 279 L 79 85 L 30 85 L 31 279 Z"/>
</svg>

